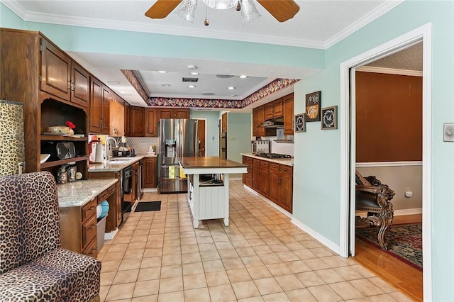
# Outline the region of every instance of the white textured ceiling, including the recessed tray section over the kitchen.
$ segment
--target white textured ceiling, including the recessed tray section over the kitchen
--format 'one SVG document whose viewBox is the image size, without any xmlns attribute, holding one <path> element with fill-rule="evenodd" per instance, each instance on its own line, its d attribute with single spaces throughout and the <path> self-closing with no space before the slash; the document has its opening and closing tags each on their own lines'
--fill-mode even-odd
<svg viewBox="0 0 454 302">
<path fill-rule="evenodd" d="M 296 0 L 300 6 L 297 15 L 279 23 L 270 13 L 255 2 L 262 16 L 242 25 L 240 13 L 235 9 L 207 9 L 198 1 L 194 23 L 189 23 L 174 12 L 164 19 L 144 16 L 153 0 L 0 0 L 26 21 L 57 23 L 93 28 L 111 28 L 170 35 L 189 35 L 226 40 L 277 45 L 294 45 L 325 49 L 342 40 L 358 28 L 381 16 L 402 0 Z M 209 26 L 204 26 L 208 16 Z M 206 99 L 245 99 L 249 94 L 278 77 L 304 79 L 318 72 L 316 69 L 297 67 L 275 67 L 264 65 L 213 62 L 207 60 L 183 60 L 162 57 L 137 57 L 129 55 L 107 55 L 95 52 L 69 52 L 74 59 L 87 67 L 92 74 L 109 84 L 130 104 L 146 106 L 129 84 L 120 69 L 138 70 L 150 96 L 187 97 Z M 378 63 L 377 63 L 378 64 Z M 182 77 L 192 77 L 188 65 L 197 65 L 201 73 L 195 88 L 182 83 Z M 158 74 L 166 70 L 166 74 Z M 216 74 L 236 77 L 219 79 Z M 248 74 L 247 79 L 239 79 Z M 110 84 L 112 81 L 120 84 Z M 170 84 L 170 86 L 162 86 Z M 227 86 L 235 86 L 230 91 Z M 292 92 L 292 87 L 279 94 Z M 206 94 L 214 94 L 207 96 Z M 279 95 L 273 96 L 279 97 Z M 262 102 L 268 101 L 264 99 Z M 254 104 L 258 106 L 258 104 Z"/>
</svg>

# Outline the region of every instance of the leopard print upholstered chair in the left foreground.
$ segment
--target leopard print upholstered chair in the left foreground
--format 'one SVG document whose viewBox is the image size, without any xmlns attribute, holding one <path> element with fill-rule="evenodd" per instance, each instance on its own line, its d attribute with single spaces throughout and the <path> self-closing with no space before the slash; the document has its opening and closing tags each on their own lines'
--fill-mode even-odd
<svg viewBox="0 0 454 302">
<path fill-rule="evenodd" d="M 101 262 L 62 249 L 49 172 L 0 177 L 0 301 L 99 301 Z"/>
</svg>

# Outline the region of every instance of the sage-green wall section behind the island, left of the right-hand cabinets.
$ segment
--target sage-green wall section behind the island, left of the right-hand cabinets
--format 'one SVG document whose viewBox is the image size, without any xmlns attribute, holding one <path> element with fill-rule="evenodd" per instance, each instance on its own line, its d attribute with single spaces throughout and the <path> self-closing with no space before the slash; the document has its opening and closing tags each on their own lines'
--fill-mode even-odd
<svg viewBox="0 0 454 302">
<path fill-rule="evenodd" d="M 227 158 L 243 162 L 240 153 L 250 153 L 250 113 L 227 113 Z"/>
</svg>

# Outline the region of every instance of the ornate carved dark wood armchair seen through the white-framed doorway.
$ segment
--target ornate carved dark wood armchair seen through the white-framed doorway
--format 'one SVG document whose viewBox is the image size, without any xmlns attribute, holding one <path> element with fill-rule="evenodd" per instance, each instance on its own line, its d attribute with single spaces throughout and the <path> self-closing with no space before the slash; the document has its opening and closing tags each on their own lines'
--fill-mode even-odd
<svg viewBox="0 0 454 302">
<path fill-rule="evenodd" d="M 386 233 L 392 224 L 394 210 L 391 199 L 395 193 L 375 176 L 362 177 L 356 171 L 356 210 L 367 211 L 367 217 L 356 216 L 357 228 L 378 227 L 377 241 L 382 250 L 387 250 Z"/>
</svg>

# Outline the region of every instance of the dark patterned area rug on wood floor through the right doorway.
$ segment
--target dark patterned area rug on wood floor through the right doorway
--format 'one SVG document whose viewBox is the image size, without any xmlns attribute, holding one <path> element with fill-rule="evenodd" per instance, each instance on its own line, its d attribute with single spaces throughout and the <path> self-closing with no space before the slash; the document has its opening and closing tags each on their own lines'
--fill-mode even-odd
<svg viewBox="0 0 454 302">
<path fill-rule="evenodd" d="M 371 245 L 380 248 L 377 240 L 378 228 L 359 228 L 356 235 Z M 391 225 L 386 234 L 389 255 L 423 270 L 423 230 L 421 223 Z"/>
</svg>

